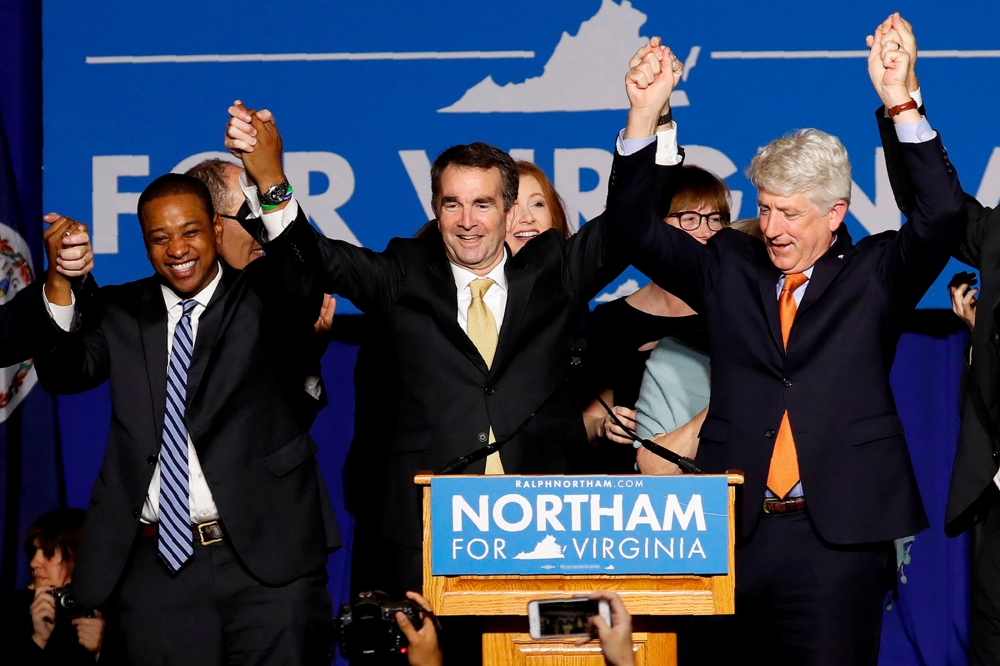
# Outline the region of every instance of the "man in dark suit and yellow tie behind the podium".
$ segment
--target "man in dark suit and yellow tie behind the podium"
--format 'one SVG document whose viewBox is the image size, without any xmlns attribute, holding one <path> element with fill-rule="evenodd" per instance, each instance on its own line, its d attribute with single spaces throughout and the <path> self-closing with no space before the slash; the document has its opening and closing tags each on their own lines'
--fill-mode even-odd
<svg viewBox="0 0 1000 666">
<path fill-rule="evenodd" d="M 230 113 L 227 146 L 252 148 L 249 123 L 259 119 Z M 600 220 L 568 240 L 548 231 L 512 256 L 504 238 L 517 212 L 517 166 L 492 146 L 446 150 L 431 181 L 435 238 L 396 238 L 377 253 L 317 236 L 324 291 L 386 322 L 399 361 L 382 524 L 393 594 L 422 586 L 418 471 L 440 470 L 522 424 L 498 455 L 466 471 L 573 470 L 588 444 L 566 381 L 569 340 L 579 337 L 581 309 L 625 266 Z"/>
</svg>

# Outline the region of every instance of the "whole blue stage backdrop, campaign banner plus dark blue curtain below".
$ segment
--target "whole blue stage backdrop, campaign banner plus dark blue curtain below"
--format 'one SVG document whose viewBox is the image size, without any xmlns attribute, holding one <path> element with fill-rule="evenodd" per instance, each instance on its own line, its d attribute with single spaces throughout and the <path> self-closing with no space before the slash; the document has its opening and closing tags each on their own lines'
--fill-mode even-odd
<svg viewBox="0 0 1000 666">
<path fill-rule="evenodd" d="M 862 53 L 864 36 L 896 9 L 918 31 L 929 116 L 966 189 L 988 205 L 1000 200 L 1000 136 L 990 117 L 970 113 L 1000 101 L 1000 87 L 981 85 L 1000 79 L 1000 53 L 982 51 L 994 43 L 1000 6 L 980 0 L 946 15 L 912 2 L 752 6 L 372 0 L 283 3 L 276 13 L 261 2 L 234 11 L 189 0 L 46 0 L 44 205 L 92 224 L 102 283 L 148 274 L 133 214 L 137 193 L 159 173 L 221 150 L 225 108 L 241 98 L 275 112 L 286 170 L 331 236 L 381 249 L 393 235 L 410 235 L 429 216 L 428 161 L 475 139 L 533 157 L 581 221 L 603 206 L 627 104 L 624 63 L 641 37 L 661 34 L 688 63 L 674 100 L 681 142 L 698 146 L 689 150 L 692 161 L 746 193 L 742 215 L 753 211 L 742 169 L 756 147 L 817 126 L 839 135 L 852 155 L 848 223 L 864 235 L 899 224 Z M 0 110 L 23 208 L 35 221 L 42 205 L 39 13 L 30 0 L 0 0 Z M 40 222 L 29 224 L 28 236 L 40 230 Z M 945 305 L 940 285 L 925 305 Z M 893 371 L 932 527 L 918 538 L 909 583 L 886 615 L 883 664 L 964 663 L 966 545 L 942 534 L 963 341 L 962 333 L 908 333 Z M 324 358 L 331 405 L 313 429 L 338 504 L 355 352 L 334 343 Z M 107 391 L 60 398 L 59 408 L 66 496 L 82 506 L 107 436 Z M 24 486 L 25 493 L 51 492 Z M 349 536 L 349 517 L 342 506 L 338 512 Z M 346 600 L 347 552 L 330 559 L 337 603 Z M 23 582 L 24 569 L 18 573 Z"/>
</svg>

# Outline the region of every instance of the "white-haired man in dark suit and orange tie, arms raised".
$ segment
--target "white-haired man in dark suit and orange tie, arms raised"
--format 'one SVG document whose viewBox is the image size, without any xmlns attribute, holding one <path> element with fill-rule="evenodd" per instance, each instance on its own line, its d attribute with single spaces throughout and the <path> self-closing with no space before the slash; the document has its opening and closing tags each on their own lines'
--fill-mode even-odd
<svg viewBox="0 0 1000 666">
<path fill-rule="evenodd" d="M 908 104 L 898 36 L 872 40 L 869 73 L 895 115 L 918 205 L 898 232 L 854 244 L 843 225 L 850 163 L 800 130 L 762 148 L 764 242 L 723 230 L 707 245 L 652 206 L 655 111 L 679 63 L 647 48 L 626 78 L 632 108 L 608 210 L 637 268 L 708 322 L 712 396 L 702 469 L 742 470 L 736 626 L 763 663 L 876 664 L 892 540 L 927 526 L 889 385 L 900 318 L 957 241 L 961 187 L 940 138 Z M 910 137 L 907 137 L 907 140 Z M 794 324 L 793 324 L 794 322 Z"/>
</svg>

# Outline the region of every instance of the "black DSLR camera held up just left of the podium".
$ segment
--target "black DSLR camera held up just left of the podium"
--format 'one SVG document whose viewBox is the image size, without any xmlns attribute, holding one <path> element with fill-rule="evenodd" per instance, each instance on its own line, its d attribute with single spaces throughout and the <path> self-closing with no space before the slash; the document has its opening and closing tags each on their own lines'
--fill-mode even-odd
<svg viewBox="0 0 1000 666">
<path fill-rule="evenodd" d="M 423 624 L 423 611 L 409 599 L 393 601 L 385 592 L 361 592 L 354 603 L 340 607 L 337 642 L 340 654 L 357 664 L 405 664 L 406 636 L 396 624 L 402 612 L 415 629 Z"/>
</svg>

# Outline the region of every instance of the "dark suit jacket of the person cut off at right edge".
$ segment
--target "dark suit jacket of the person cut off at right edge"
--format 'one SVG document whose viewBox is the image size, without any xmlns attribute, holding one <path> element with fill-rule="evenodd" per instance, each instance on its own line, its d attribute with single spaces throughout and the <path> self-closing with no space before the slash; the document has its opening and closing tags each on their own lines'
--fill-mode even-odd
<svg viewBox="0 0 1000 666">
<path fill-rule="evenodd" d="M 900 211 L 917 206 L 913 174 L 901 159 L 902 149 L 892 120 L 876 112 L 885 148 L 889 182 Z M 965 195 L 964 230 L 954 256 L 979 269 L 976 328 L 972 332 L 972 365 L 962 376 L 962 426 L 951 472 L 945 532 L 956 536 L 980 516 L 976 500 L 993 483 L 1000 448 L 1000 209 L 987 208 Z"/>
</svg>

